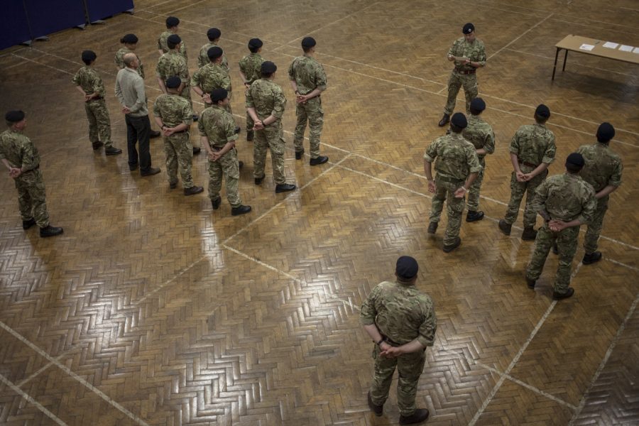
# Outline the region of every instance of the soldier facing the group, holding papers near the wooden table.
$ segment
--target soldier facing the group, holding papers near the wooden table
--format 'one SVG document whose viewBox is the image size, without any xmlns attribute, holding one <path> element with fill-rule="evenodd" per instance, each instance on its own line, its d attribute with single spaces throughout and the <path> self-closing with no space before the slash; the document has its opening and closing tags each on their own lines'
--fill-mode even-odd
<svg viewBox="0 0 639 426">
<path fill-rule="evenodd" d="M 477 68 L 486 66 L 486 48 L 483 41 L 475 38 L 475 26 L 472 23 L 466 23 L 461 33 L 464 37 L 455 40 L 448 51 L 448 60 L 454 61 L 455 67 L 448 80 L 448 99 L 439 127 L 446 126 L 450 120 L 461 86 L 464 86 L 464 94 L 466 94 L 466 114 L 470 112 L 470 102 L 475 99 L 478 92 Z"/>
</svg>

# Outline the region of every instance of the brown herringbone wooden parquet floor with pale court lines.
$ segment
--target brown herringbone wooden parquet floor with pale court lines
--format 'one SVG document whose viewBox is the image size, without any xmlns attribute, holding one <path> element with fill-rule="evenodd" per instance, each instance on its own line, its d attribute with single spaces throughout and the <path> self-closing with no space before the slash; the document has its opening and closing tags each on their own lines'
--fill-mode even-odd
<svg viewBox="0 0 639 426">
<path fill-rule="evenodd" d="M 113 55 L 122 35 L 138 35 L 153 102 L 155 40 L 170 15 L 182 21 L 192 72 L 207 29 L 222 29 L 236 88 L 247 40 L 264 41 L 289 99 L 285 168 L 298 190 L 275 195 L 270 162 L 263 185 L 253 185 L 244 133 L 240 194 L 253 212 L 241 217 L 231 217 L 224 195 L 213 211 L 206 192 L 169 190 L 157 139 L 151 153 L 163 173 L 153 178 L 129 172 L 126 152 L 92 151 L 70 82 L 81 51 L 97 52 L 113 138 L 126 148 Z M 445 53 L 466 21 L 486 43 L 479 91 L 497 148 L 482 189 L 486 219 L 464 222 L 463 244 L 444 254 L 442 232 L 426 232 L 422 155 L 443 133 Z M 428 424 L 638 424 L 639 69 L 570 54 L 550 81 L 564 35 L 636 46 L 638 26 L 634 0 L 141 0 L 133 16 L 1 51 L 0 111 L 27 112 L 52 222 L 65 234 L 23 231 L 3 173 L 0 424 L 395 425 L 394 388 L 383 417 L 366 405 L 372 344 L 359 307 L 404 253 L 420 261 L 417 285 L 439 319 L 417 391 Z M 309 34 L 329 80 L 322 153 L 330 162 L 318 168 L 293 155 L 286 77 Z M 576 294 L 561 302 L 550 297 L 557 258 L 528 290 L 532 244 L 520 227 L 506 237 L 496 226 L 510 195 L 508 143 L 541 102 L 557 136 L 550 173 L 594 141 L 601 121 L 616 126 L 613 149 L 625 167 L 600 240 L 604 259 L 581 265 L 580 246 Z M 236 89 L 244 128 L 243 103 Z M 206 187 L 202 155 L 193 170 Z"/>
</svg>

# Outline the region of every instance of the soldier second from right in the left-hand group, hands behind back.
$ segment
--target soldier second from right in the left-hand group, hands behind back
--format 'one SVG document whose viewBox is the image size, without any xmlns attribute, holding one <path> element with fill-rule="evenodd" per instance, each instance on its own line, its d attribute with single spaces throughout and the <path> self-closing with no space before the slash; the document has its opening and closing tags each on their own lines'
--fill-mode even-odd
<svg viewBox="0 0 639 426">
<path fill-rule="evenodd" d="M 255 143 L 253 144 L 253 178 L 255 185 L 264 180 L 266 148 L 271 151 L 275 192 L 295 190 L 295 185 L 286 183 L 284 175 L 284 138 L 282 116 L 286 107 L 286 97 L 282 88 L 275 84 L 278 67 L 271 61 L 262 62 L 261 78 L 255 80 L 246 92 L 246 109 L 255 122 Z"/>
</svg>

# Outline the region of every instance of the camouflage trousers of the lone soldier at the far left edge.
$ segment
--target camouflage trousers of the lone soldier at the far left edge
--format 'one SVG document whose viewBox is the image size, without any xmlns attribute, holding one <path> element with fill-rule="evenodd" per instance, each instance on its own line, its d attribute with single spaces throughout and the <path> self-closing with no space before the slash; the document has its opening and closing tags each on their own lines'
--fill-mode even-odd
<svg viewBox="0 0 639 426">
<path fill-rule="evenodd" d="M 18 190 L 18 208 L 22 220 L 33 218 L 40 228 L 48 226 L 49 213 L 40 170 L 24 172 L 14 179 L 14 182 L 16 182 L 16 190 Z"/>
</svg>

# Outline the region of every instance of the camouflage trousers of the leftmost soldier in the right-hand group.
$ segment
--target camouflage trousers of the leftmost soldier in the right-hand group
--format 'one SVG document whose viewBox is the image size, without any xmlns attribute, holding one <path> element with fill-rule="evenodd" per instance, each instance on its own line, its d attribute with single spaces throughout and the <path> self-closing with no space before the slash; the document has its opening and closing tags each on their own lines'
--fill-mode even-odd
<svg viewBox="0 0 639 426">
<path fill-rule="evenodd" d="M 461 187 L 461 185 L 464 185 L 464 181 L 460 180 L 458 183 L 444 182 L 439 175 L 436 175 L 435 185 L 437 185 L 437 189 L 435 190 L 435 195 L 432 196 L 430 222 L 439 222 L 445 201 L 448 213 L 448 224 L 444 232 L 444 246 L 450 246 L 459 236 L 461 213 L 464 212 L 464 205 L 466 204 L 464 198 L 455 197 L 454 192 Z"/>
</svg>

